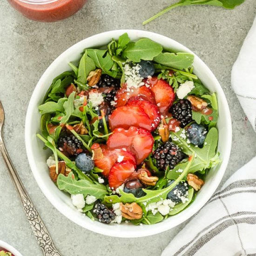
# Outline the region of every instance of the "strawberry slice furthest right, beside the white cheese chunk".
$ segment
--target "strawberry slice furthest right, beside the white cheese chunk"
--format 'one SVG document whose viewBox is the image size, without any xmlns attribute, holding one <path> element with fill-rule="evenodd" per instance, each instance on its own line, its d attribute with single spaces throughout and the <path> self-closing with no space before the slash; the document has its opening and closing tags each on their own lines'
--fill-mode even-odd
<svg viewBox="0 0 256 256">
<path fill-rule="evenodd" d="M 165 115 L 175 100 L 174 89 L 168 84 L 167 81 L 157 79 L 156 76 L 147 79 L 146 83 L 149 84 L 149 88 L 155 95 L 155 102 L 160 110 L 160 113 Z"/>
</svg>

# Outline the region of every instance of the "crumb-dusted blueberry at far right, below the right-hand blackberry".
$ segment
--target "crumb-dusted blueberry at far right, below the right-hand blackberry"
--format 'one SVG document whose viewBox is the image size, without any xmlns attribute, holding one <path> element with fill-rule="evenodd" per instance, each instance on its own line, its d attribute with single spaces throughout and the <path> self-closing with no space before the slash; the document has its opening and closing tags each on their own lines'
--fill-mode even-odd
<svg viewBox="0 0 256 256">
<path fill-rule="evenodd" d="M 197 123 L 192 123 L 187 128 L 187 136 L 189 141 L 194 145 L 202 145 L 207 134 L 207 129 Z"/>
</svg>

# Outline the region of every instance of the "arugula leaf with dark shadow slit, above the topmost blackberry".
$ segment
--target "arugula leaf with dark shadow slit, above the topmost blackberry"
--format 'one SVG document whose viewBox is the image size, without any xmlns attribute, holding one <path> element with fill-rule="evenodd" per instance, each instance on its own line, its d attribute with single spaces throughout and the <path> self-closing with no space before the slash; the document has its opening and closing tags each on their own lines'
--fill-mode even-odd
<svg viewBox="0 0 256 256">
<path fill-rule="evenodd" d="M 87 51 L 88 56 L 94 61 L 96 67 L 101 68 L 108 74 L 114 62 L 107 50 L 88 49 Z"/>
</svg>

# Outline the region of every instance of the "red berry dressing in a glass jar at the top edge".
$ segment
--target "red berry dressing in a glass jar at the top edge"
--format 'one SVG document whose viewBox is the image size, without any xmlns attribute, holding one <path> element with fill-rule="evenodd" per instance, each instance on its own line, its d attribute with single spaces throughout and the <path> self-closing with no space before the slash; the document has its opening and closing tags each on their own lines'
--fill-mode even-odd
<svg viewBox="0 0 256 256">
<path fill-rule="evenodd" d="M 31 20 L 53 22 L 76 13 L 87 0 L 8 0 L 8 2 Z"/>
</svg>

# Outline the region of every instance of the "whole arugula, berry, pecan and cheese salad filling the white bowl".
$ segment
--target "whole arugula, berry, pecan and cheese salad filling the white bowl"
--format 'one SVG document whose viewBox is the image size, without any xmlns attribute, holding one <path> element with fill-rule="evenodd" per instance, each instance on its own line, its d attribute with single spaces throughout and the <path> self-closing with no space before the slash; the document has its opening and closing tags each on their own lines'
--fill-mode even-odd
<svg viewBox="0 0 256 256">
<path fill-rule="evenodd" d="M 149 225 L 196 201 L 221 163 L 218 101 L 194 54 L 127 33 L 86 48 L 38 109 L 45 165 L 73 205 L 104 224 Z"/>
</svg>

